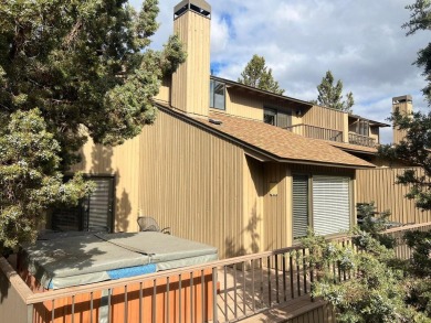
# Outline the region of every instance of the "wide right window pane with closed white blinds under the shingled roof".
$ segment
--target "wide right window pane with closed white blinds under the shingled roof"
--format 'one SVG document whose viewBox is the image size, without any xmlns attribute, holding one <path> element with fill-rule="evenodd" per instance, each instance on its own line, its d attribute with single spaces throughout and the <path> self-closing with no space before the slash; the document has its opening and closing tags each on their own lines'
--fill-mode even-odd
<svg viewBox="0 0 431 323">
<path fill-rule="evenodd" d="M 313 176 L 313 227 L 318 235 L 350 228 L 349 177 Z"/>
</svg>

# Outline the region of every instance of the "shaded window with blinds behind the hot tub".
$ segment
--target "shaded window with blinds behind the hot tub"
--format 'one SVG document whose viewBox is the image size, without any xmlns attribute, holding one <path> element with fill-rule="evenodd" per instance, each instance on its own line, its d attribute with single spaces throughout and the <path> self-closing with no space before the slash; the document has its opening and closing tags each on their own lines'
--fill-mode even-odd
<svg viewBox="0 0 431 323">
<path fill-rule="evenodd" d="M 52 228 L 62 232 L 113 230 L 114 177 L 92 176 L 95 191 L 75 207 L 57 208 L 52 215 Z"/>
</svg>

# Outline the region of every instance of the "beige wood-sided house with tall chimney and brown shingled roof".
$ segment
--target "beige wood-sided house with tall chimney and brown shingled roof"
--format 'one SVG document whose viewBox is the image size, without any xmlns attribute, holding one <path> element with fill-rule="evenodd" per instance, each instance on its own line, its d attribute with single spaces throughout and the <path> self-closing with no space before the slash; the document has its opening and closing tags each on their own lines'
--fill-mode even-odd
<svg viewBox="0 0 431 323">
<path fill-rule="evenodd" d="M 136 232 L 151 216 L 221 258 L 292 246 L 307 226 L 349 229 L 356 173 L 379 163 L 389 125 L 212 76 L 211 7 L 185 0 L 174 19 L 188 58 L 164 80 L 156 122 L 120 147 L 84 147 L 73 171 L 97 190 L 52 228 Z"/>
</svg>

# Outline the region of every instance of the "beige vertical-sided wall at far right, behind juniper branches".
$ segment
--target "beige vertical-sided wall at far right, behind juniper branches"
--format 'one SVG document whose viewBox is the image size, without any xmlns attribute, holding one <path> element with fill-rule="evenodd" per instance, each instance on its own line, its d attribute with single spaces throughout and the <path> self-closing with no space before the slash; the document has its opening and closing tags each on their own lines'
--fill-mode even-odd
<svg viewBox="0 0 431 323">
<path fill-rule="evenodd" d="M 417 169 L 420 174 L 422 170 Z M 378 212 L 389 209 L 391 220 L 407 223 L 427 223 L 431 212 L 422 212 L 414 206 L 414 201 L 406 198 L 408 186 L 396 184 L 397 175 L 404 169 L 377 169 L 357 171 L 358 203 L 375 202 Z"/>
</svg>

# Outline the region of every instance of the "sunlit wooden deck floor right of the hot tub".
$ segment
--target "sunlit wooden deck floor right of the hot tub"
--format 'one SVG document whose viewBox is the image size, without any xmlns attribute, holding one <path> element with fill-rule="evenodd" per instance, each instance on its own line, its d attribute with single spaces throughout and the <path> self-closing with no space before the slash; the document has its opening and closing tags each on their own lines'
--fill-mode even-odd
<svg viewBox="0 0 431 323">
<path fill-rule="evenodd" d="M 308 294 L 311 287 L 308 280 L 304 283 L 304 278 L 301 276 L 297 280 L 296 274 L 292 279 L 293 292 L 290 288 L 288 272 L 283 278 L 283 272 L 274 269 L 242 270 L 232 267 L 220 269 L 218 271 L 218 321 L 288 322 L 325 304 L 322 301 L 312 302 Z M 305 289 L 308 293 L 304 293 Z M 259 314 L 254 314 L 256 312 Z"/>
</svg>

